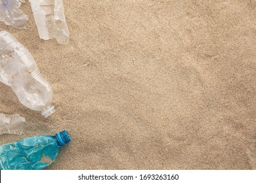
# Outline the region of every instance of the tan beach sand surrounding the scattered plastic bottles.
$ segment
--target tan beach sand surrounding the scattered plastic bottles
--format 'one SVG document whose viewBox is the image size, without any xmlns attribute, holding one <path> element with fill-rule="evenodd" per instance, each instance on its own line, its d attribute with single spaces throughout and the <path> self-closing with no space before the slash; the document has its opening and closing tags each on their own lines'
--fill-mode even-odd
<svg viewBox="0 0 256 183">
<path fill-rule="evenodd" d="M 64 1 L 70 42 L 0 23 L 53 88 L 49 118 L 0 84 L 29 122 L 1 144 L 67 129 L 49 169 L 256 169 L 255 0 Z"/>
</svg>

